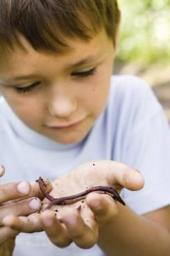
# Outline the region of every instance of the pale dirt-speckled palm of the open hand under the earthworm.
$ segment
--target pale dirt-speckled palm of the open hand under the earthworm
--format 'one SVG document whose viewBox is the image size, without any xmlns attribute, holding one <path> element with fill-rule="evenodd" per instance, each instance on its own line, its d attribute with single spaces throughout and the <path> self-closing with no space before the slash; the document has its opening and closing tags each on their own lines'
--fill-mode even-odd
<svg viewBox="0 0 170 256">
<path fill-rule="evenodd" d="M 94 161 L 79 165 L 76 169 L 53 181 L 53 190 L 50 195 L 55 198 L 75 195 L 91 188 L 92 186 L 111 186 L 108 179 L 108 161 Z M 44 199 L 44 204 L 48 201 Z M 43 206 L 43 209 L 46 206 Z M 87 220 L 90 214 L 87 204 L 83 199 L 66 205 L 52 206 L 58 218 L 62 218 L 62 213 L 69 208 L 76 208 L 80 211 L 83 219 Z"/>
</svg>

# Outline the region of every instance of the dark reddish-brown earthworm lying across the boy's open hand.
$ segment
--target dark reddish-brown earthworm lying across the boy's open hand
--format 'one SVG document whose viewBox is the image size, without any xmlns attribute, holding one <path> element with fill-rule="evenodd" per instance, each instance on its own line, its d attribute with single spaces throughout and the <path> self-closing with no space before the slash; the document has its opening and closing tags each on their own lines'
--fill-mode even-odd
<svg viewBox="0 0 170 256">
<path fill-rule="evenodd" d="M 46 209 L 50 209 L 51 206 L 53 206 L 54 204 L 69 204 L 69 201 L 73 200 L 73 199 L 80 199 L 81 197 L 84 197 L 85 195 L 92 193 L 94 191 L 101 191 L 104 192 L 105 194 L 110 195 L 113 199 L 117 200 L 118 202 L 120 202 L 123 205 L 126 205 L 125 202 L 123 201 L 123 199 L 121 199 L 121 197 L 119 196 L 119 193 L 117 193 L 117 190 L 115 190 L 112 187 L 108 187 L 108 186 L 95 186 L 92 188 L 89 188 L 81 193 L 78 193 L 76 195 L 69 195 L 66 197 L 58 197 L 58 198 L 54 198 L 51 197 L 51 195 L 49 195 L 49 193 L 46 193 L 45 191 L 45 183 L 42 179 L 42 177 L 40 176 L 39 179 L 36 180 L 37 183 L 39 183 L 40 186 L 40 190 L 42 191 L 42 193 L 44 194 L 44 197 L 46 197 L 47 199 L 49 199 L 49 201 L 51 201 L 48 206 L 46 206 Z"/>
</svg>

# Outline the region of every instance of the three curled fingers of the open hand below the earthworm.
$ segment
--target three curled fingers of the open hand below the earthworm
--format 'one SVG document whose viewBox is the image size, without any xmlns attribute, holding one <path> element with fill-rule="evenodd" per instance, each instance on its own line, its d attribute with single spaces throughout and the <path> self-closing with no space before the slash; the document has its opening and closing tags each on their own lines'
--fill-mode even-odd
<svg viewBox="0 0 170 256">
<path fill-rule="evenodd" d="M 91 248 L 98 241 L 99 229 L 117 216 L 117 205 L 109 195 L 87 195 L 81 210 L 63 206 L 62 218 L 58 220 L 52 210 L 41 214 L 44 231 L 52 243 L 59 247 L 74 241 L 80 248 Z M 60 221 L 62 220 L 62 223 Z"/>
</svg>

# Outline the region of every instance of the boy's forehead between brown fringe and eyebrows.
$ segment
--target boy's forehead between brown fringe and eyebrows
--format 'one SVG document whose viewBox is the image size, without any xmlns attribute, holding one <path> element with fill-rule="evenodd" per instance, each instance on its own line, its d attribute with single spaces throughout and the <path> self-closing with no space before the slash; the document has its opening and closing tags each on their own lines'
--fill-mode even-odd
<svg viewBox="0 0 170 256">
<path fill-rule="evenodd" d="M 112 45 L 104 30 L 96 34 L 90 42 L 68 39 L 69 50 L 64 54 L 37 52 L 24 38 L 22 38 L 22 43 L 26 51 L 15 47 L 15 50 L 9 54 L 1 54 L 0 78 L 6 80 L 9 73 L 10 77 L 28 72 L 34 73 L 35 70 L 37 73 L 41 73 L 42 68 L 46 66 L 55 66 L 56 68 L 72 66 L 81 59 L 105 55 L 109 50 L 109 45 Z"/>
</svg>

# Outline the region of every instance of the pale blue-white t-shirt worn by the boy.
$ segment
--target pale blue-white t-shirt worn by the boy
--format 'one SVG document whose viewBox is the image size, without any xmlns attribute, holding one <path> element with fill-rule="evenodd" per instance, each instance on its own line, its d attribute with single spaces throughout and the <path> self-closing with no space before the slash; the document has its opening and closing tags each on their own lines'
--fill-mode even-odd
<svg viewBox="0 0 170 256">
<path fill-rule="evenodd" d="M 99 99 L 100 100 L 100 99 Z M 170 133 L 160 103 L 137 77 L 113 76 L 105 110 L 85 139 L 69 146 L 35 133 L 0 100 L 0 163 L 6 167 L 1 183 L 35 181 L 38 176 L 56 179 L 80 163 L 108 159 L 142 172 L 145 186 L 137 192 L 122 190 L 121 196 L 139 214 L 170 203 Z M 15 256 L 101 256 L 98 246 L 83 250 L 72 243 L 53 246 L 44 232 L 19 234 Z"/>
</svg>

